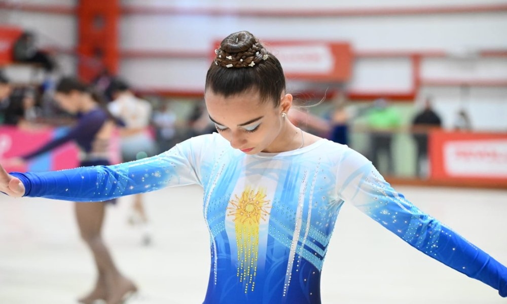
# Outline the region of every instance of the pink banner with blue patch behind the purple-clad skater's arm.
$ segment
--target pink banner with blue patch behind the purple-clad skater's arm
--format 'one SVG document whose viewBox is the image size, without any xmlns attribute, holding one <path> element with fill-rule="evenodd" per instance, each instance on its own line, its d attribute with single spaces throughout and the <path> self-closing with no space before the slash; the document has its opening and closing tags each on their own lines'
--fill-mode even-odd
<svg viewBox="0 0 507 304">
<path fill-rule="evenodd" d="M 77 167 L 79 165 L 78 148 L 71 142 L 24 165 L 13 166 L 5 162 L 37 149 L 62 131 L 62 129 L 52 128 L 24 130 L 16 127 L 0 127 L 0 163 L 7 172 L 53 171 Z"/>
</svg>

